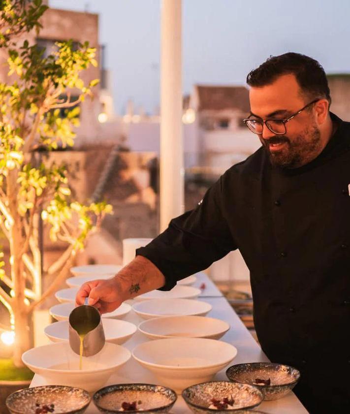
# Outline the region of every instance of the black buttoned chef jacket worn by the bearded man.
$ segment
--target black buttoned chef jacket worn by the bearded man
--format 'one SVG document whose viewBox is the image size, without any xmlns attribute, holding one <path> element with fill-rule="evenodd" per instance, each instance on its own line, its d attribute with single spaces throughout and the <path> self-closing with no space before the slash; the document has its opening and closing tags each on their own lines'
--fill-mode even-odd
<svg viewBox="0 0 350 414">
<path fill-rule="evenodd" d="M 273 167 L 261 147 L 137 254 L 168 290 L 239 249 L 262 349 L 300 369 L 295 390 L 310 412 L 333 414 L 350 408 L 350 123 L 331 117 L 338 128 L 312 162 Z"/>
</svg>

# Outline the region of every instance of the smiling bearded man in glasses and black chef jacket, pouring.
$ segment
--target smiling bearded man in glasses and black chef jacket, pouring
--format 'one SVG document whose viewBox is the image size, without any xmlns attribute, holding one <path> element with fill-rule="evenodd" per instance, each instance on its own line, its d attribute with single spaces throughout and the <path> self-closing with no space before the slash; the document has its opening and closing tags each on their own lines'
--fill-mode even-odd
<svg viewBox="0 0 350 414">
<path fill-rule="evenodd" d="M 110 312 L 239 249 L 264 352 L 301 371 L 295 392 L 310 413 L 350 412 L 350 123 L 329 112 L 324 70 L 307 56 L 271 57 L 247 83 L 244 122 L 261 148 L 113 280 L 84 285 L 76 300 L 89 296 Z"/>
</svg>

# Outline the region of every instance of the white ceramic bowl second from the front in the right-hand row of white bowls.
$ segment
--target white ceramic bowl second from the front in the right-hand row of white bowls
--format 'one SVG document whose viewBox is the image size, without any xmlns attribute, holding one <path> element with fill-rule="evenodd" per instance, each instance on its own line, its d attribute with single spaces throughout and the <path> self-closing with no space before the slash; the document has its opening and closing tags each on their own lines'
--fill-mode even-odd
<svg viewBox="0 0 350 414">
<path fill-rule="evenodd" d="M 205 316 L 168 316 L 141 322 L 138 329 L 150 339 L 210 338 L 219 339 L 230 325 L 223 320 Z"/>
</svg>

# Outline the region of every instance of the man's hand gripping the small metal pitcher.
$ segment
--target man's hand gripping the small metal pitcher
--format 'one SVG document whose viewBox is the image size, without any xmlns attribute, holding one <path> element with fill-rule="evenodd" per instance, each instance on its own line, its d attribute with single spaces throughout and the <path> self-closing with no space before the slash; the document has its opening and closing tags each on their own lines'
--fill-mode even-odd
<svg viewBox="0 0 350 414">
<path fill-rule="evenodd" d="M 75 297 L 76 304 L 84 305 L 87 297 L 89 298 L 88 304 L 95 306 L 101 314 L 114 311 L 124 301 L 116 277 L 84 283 Z"/>
</svg>

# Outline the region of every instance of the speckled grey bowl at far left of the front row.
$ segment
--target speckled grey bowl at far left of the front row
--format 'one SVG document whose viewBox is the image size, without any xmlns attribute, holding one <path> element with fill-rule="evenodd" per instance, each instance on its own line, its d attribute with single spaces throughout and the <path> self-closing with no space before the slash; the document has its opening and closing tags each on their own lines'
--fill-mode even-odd
<svg viewBox="0 0 350 414">
<path fill-rule="evenodd" d="M 81 414 L 90 404 L 88 391 L 64 385 L 44 385 L 13 392 L 6 399 L 6 406 L 12 414 L 33 414 L 35 404 L 55 405 L 53 414 Z"/>
</svg>

